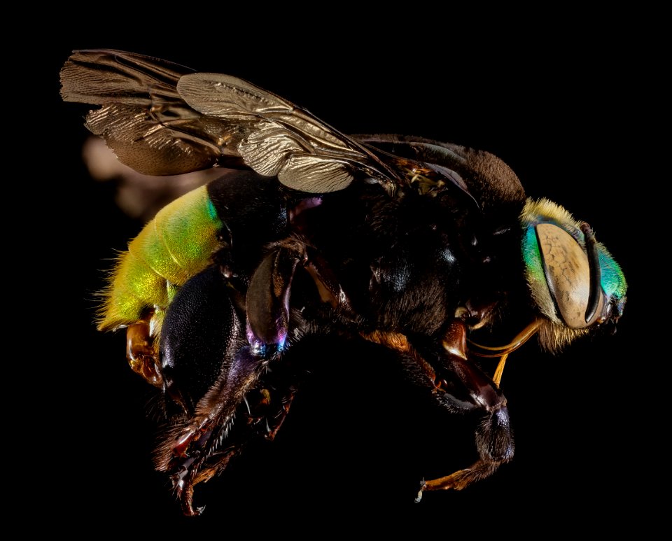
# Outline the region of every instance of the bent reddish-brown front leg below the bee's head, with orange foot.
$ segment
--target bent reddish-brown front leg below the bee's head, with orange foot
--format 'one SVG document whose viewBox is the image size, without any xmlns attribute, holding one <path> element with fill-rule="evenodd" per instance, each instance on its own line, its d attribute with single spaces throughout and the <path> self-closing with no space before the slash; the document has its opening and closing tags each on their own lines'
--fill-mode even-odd
<svg viewBox="0 0 672 541">
<path fill-rule="evenodd" d="M 449 379 L 457 379 L 459 385 L 447 384 L 440 390 L 440 400 L 463 412 L 482 412 L 475 433 L 479 460 L 469 468 L 423 482 L 416 501 L 421 500 L 423 491 L 462 490 L 472 482 L 488 477 L 513 458 L 514 443 L 506 399 L 496 384 L 468 360 L 465 336 L 463 323 L 451 323 L 443 344 L 447 355 L 442 364 Z M 453 389 L 459 389 L 459 392 Z"/>
</svg>

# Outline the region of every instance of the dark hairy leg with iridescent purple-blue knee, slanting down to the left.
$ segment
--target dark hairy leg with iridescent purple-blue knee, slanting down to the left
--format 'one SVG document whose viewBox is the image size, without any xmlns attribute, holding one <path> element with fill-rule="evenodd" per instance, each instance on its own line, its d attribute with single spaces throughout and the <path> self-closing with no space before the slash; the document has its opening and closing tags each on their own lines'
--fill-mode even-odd
<svg viewBox="0 0 672 541">
<path fill-rule="evenodd" d="M 185 514 L 200 514 L 201 510 L 193 507 L 195 484 L 225 468 L 248 439 L 246 436 L 230 442 L 228 435 L 237 429 L 233 426 L 237 412 L 241 412 L 241 405 L 257 386 L 267 364 L 286 349 L 290 285 L 297 265 L 305 260 L 302 245 L 295 241 L 279 244 L 262 260 L 246 293 L 249 345 L 225 363 L 186 425 L 173 430 L 158 449 L 156 468 L 172 473 Z M 269 424 L 267 436 L 274 437 L 285 414 L 285 410 L 280 412 L 274 428 Z M 225 439 L 228 450 L 220 458 L 210 458 Z"/>
</svg>

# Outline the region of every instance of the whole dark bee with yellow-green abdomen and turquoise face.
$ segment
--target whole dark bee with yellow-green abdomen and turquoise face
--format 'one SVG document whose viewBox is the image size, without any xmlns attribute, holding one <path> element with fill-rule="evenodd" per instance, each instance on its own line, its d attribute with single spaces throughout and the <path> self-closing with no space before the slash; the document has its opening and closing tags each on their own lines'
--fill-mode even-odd
<svg viewBox="0 0 672 541">
<path fill-rule="evenodd" d="M 491 153 L 342 134 L 246 80 L 131 52 L 75 51 L 61 83 L 136 171 L 221 171 L 132 239 L 97 320 L 125 330 L 130 367 L 165 398 L 155 467 L 184 514 L 202 512 L 198 484 L 276 437 L 328 344 L 393 354 L 477 418 L 477 460 L 421 481 L 419 501 L 512 460 L 512 352 L 537 337 L 559 353 L 623 314 L 626 280 L 591 227 L 527 197 Z"/>
</svg>

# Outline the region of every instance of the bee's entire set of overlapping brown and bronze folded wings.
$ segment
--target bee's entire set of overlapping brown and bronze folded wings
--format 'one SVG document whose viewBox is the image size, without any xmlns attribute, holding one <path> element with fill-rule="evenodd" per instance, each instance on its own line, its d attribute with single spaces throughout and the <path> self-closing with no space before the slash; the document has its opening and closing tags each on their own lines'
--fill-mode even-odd
<svg viewBox="0 0 672 541">
<path fill-rule="evenodd" d="M 65 101 L 95 104 L 86 125 L 119 159 L 151 175 L 242 164 L 307 192 L 342 190 L 358 176 L 393 183 L 366 146 L 245 80 L 116 50 L 73 52 Z"/>
</svg>

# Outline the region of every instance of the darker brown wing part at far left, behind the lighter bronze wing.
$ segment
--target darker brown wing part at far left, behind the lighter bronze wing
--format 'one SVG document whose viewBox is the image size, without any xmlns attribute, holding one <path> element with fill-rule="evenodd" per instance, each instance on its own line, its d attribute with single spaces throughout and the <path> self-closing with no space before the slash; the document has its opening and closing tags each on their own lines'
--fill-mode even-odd
<svg viewBox="0 0 672 541">
<path fill-rule="evenodd" d="M 223 155 L 239 160 L 218 144 L 230 127 L 190 108 L 177 92 L 179 78 L 192 72 L 131 52 L 79 50 L 61 70 L 61 96 L 102 106 L 87 115 L 87 128 L 139 173 L 207 169 Z"/>
</svg>

